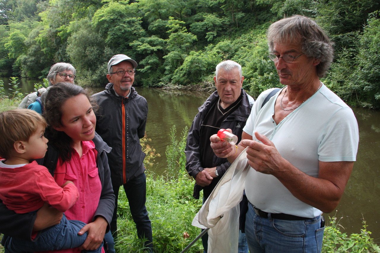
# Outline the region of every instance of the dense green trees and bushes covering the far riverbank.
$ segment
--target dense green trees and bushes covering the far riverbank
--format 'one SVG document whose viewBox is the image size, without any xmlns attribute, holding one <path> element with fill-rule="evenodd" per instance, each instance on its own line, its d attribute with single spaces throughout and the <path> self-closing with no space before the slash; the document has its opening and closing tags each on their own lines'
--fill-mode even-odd
<svg viewBox="0 0 380 253">
<path fill-rule="evenodd" d="M 123 53 L 139 63 L 135 85 L 192 86 L 231 59 L 256 97 L 280 86 L 266 29 L 301 14 L 335 42 L 325 84 L 350 105 L 380 108 L 379 9 L 375 0 L 0 0 L 0 76 L 42 78 L 70 62 L 78 84 L 104 86 L 108 60 Z"/>
</svg>

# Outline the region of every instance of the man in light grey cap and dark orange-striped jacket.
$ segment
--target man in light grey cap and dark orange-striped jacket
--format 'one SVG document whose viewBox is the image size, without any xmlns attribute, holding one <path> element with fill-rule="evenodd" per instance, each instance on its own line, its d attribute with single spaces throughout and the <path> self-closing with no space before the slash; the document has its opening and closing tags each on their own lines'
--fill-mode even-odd
<svg viewBox="0 0 380 253">
<path fill-rule="evenodd" d="M 124 54 L 114 55 L 109 60 L 109 84 L 105 90 L 93 95 L 100 107 L 95 130 L 112 147 L 108 163 L 116 205 L 111 232 L 116 237 L 117 198 L 122 185 L 136 223 L 137 235 L 146 240 L 147 250 L 153 252 L 152 226 L 145 207 L 145 153 L 139 140 L 145 134 L 148 104 L 132 87 L 136 66 L 135 60 Z"/>
</svg>

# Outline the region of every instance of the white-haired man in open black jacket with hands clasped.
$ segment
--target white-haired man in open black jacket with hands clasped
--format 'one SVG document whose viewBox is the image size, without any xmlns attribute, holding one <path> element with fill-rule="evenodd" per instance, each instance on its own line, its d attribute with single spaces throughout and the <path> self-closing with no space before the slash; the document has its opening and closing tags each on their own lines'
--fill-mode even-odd
<svg viewBox="0 0 380 253">
<path fill-rule="evenodd" d="M 241 137 L 255 102 L 242 89 L 243 81 L 244 76 L 238 63 L 231 60 L 219 63 L 214 76 L 217 91 L 199 107 L 189 130 L 185 149 L 186 169 L 195 179 L 193 196 L 196 199 L 199 199 L 199 192 L 203 189 L 205 201 L 231 165 L 227 159 L 214 155 L 210 147 L 210 136 L 216 134 L 220 128 L 230 128 L 233 134 Z M 205 252 L 207 239 L 207 234 L 202 237 Z M 248 252 L 244 234 L 239 236 L 240 252 Z"/>
</svg>

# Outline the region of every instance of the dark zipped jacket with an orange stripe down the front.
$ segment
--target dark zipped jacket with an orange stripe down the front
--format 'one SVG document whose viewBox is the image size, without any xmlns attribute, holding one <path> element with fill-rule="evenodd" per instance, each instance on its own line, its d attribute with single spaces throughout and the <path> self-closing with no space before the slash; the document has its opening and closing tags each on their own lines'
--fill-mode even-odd
<svg viewBox="0 0 380 253">
<path fill-rule="evenodd" d="M 145 171 L 140 139 L 145 135 L 148 103 L 133 87 L 128 98 L 116 96 L 111 83 L 92 96 L 100 107 L 95 130 L 112 147 L 108 154 L 112 184 L 122 185 Z"/>
</svg>

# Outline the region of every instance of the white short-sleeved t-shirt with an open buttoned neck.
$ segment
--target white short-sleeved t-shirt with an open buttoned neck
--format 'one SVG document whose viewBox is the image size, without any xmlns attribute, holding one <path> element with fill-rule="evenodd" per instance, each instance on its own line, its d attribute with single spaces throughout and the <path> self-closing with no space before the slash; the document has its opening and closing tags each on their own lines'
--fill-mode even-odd
<svg viewBox="0 0 380 253">
<path fill-rule="evenodd" d="M 278 125 L 274 122 L 273 96 L 261 109 L 272 89 L 258 96 L 243 130 L 271 140 L 280 155 L 309 176 L 318 177 L 318 160 L 355 161 L 358 151 L 358 123 L 351 108 L 322 85 L 313 96 L 291 112 Z M 260 110 L 261 109 L 261 110 Z M 294 197 L 274 176 L 250 169 L 245 181 L 248 200 L 270 213 L 287 213 L 313 218 L 322 212 Z"/>
</svg>

